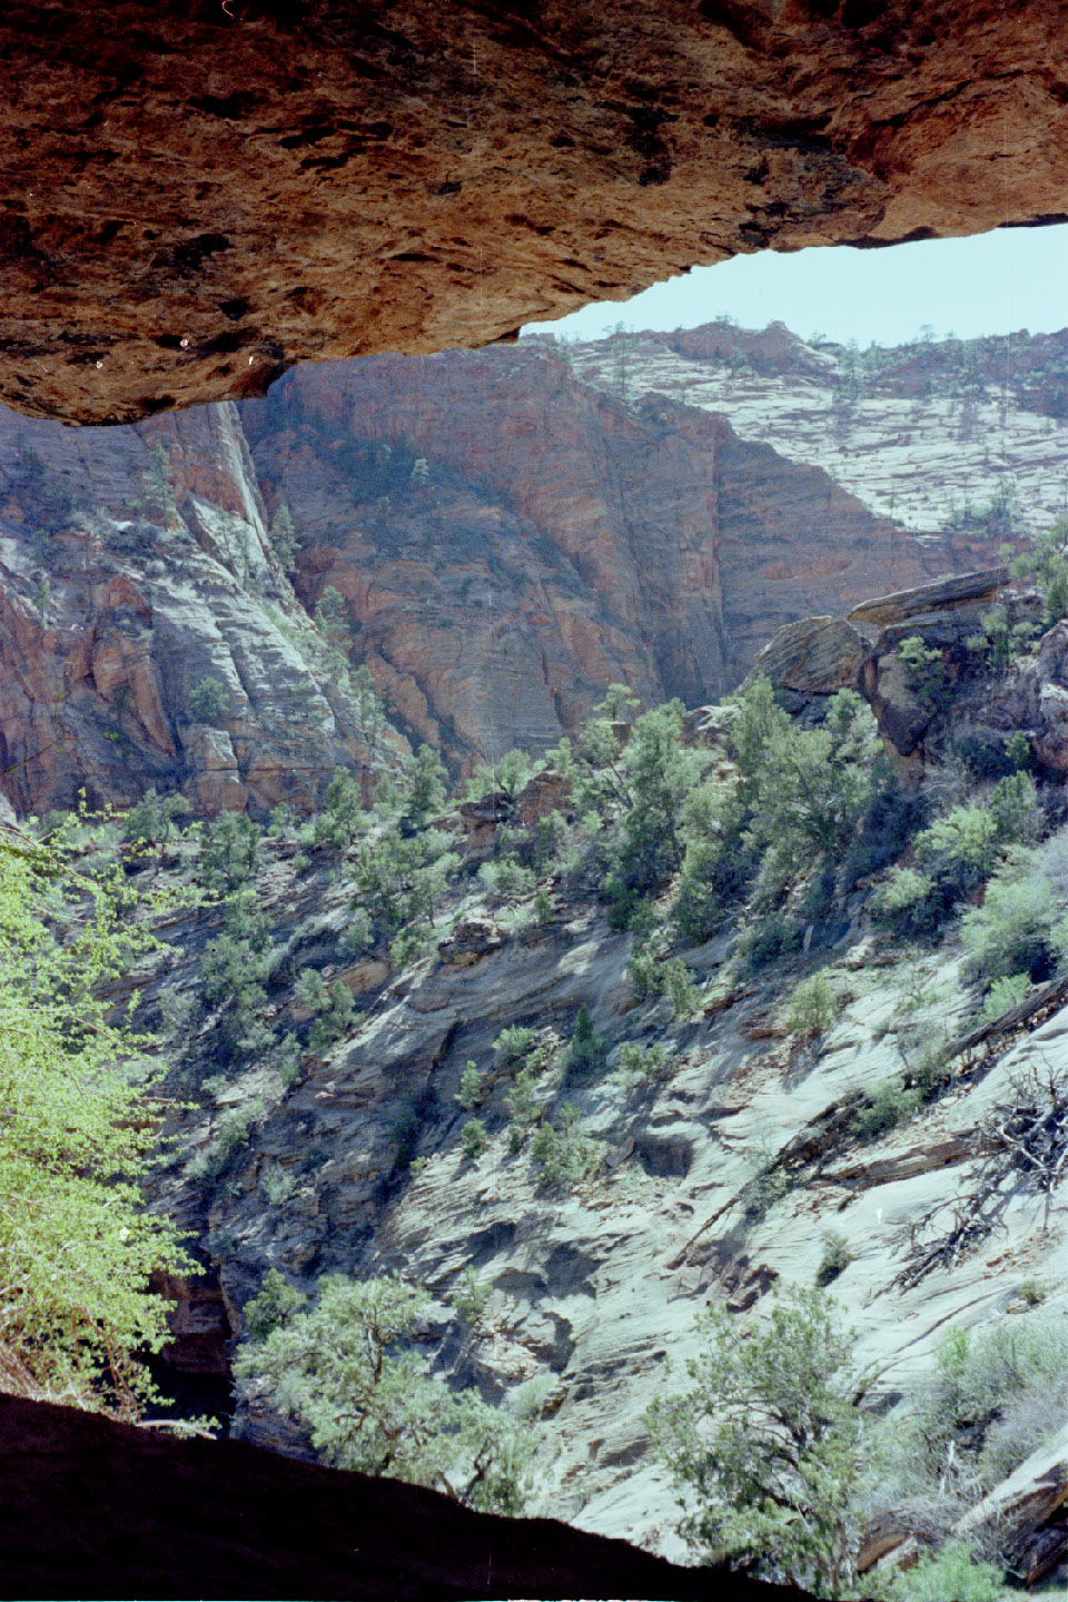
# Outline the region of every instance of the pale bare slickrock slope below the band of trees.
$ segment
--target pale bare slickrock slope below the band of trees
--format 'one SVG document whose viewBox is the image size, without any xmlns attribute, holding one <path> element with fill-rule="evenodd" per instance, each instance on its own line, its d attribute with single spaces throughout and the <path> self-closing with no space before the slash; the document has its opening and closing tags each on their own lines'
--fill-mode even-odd
<svg viewBox="0 0 1068 1602">
<path fill-rule="evenodd" d="M 291 886 L 279 867 L 259 894 L 295 926 L 312 913 L 319 926 L 344 924 L 344 891 L 322 878 Z M 1063 995 L 1049 1016 L 977 1048 L 953 1093 L 861 1141 L 852 1120 L 865 1093 L 938 1032 L 969 1027 L 954 948 L 895 955 L 858 940 L 839 958 L 837 1019 L 805 1048 L 783 1035 L 777 1003 L 746 987 L 700 1022 L 673 1022 L 664 1000 L 636 1003 L 631 936 L 600 915 L 560 912 L 508 934 L 474 892 L 463 921 L 482 924 L 464 960 L 445 950 L 386 985 L 359 1033 L 309 1059 L 303 1083 L 267 1109 L 226 1187 L 197 1203 L 171 1176 L 160 1202 L 208 1250 L 224 1242 L 223 1280 L 237 1304 L 267 1266 L 303 1288 L 323 1272 L 397 1267 L 442 1302 L 472 1266 L 490 1291 L 485 1314 L 469 1330 L 447 1325 L 442 1310 L 439 1363 L 493 1400 L 533 1378 L 546 1386 L 552 1447 L 540 1458 L 540 1509 L 682 1557 L 674 1493 L 644 1424 L 666 1384 L 663 1357 L 681 1383 L 709 1296 L 738 1314 L 741 1331 L 777 1282 L 812 1285 L 828 1232 L 844 1232 L 853 1251 L 834 1296 L 858 1331 L 858 1362 L 877 1370 L 874 1400 L 922 1383 L 948 1326 L 1023 1315 L 1018 1288 L 1030 1280 L 1049 1283 L 1049 1317 L 1062 1315 L 1063 1213 L 1044 1216 L 1023 1182 L 1006 1190 L 998 1226 L 974 1250 L 925 1270 L 917 1262 L 969 1208 L 983 1121 L 1028 1075 L 1041 1083 L 1046 1064 L 1062 1061 Z M 698 982 L 716 980 L 729 947 L 725 934 L 685 953 Z M 168 982 L 184 982 L 183 971 Z M 791 982 L 783 977 L 780 993 Z M 464 1064 L 488 1064 L 508 1024 L 567 1033 L 581 1000 L 610 1065 L 624 1040 L 660 1041 L 671 1064 L 669 1078 L 652 1083 L 608 1075 L 562 1088 L 559 1067 L 540 1080 L 546 1104 L 567 1094 L 583 1133 L 605 1142 L 602 1176 L 570 1192 L 538 1187 L 527 1153 L 508 1150 L 506 1075 L 479 1109 L 490 1149 L 464 1160 L 468 1113 L 455 1101 Z M 250 1067 L 221 1091 L 219 1112 L 266 1096 L 264 1085 Z M 412 1166 L 399 1169 L 405 1109 L 416 1110 L 418 1139 Z M 194 1150 L 208 1139 L 205 1123 Z M 255 1391 L 240 1429 L 295 1445 Z"/>
</svg>

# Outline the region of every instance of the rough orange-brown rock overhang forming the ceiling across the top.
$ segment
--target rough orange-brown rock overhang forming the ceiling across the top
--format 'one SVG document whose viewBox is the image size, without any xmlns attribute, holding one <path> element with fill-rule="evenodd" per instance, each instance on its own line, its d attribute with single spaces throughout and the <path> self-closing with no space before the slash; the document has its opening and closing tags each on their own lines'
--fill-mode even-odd
<svg viewBox="0 0 1068 1602">
<path fill-rule="evenodd" d="M 122 421 L 738 252 L 1068 211 L 1063 0 L 135 0 L 0 27 L 0 396 Z"/>
</svg>

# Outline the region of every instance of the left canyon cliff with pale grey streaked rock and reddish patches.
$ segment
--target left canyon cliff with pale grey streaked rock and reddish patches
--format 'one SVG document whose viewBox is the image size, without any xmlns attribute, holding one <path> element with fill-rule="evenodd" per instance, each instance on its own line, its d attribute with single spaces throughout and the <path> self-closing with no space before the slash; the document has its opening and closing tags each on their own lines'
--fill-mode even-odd
<svg viewBox="0 0 1068 1602">
<path fill-rule="evenodd" d="M 221 686 L 208 711 L 205 679 Z M 309 806 L 338 761 L 373 758 L 269 549 L 234 407 L 122 429 L 0 413 L 0 774 L 16 807 L 82 788 L 128 804 L 151 785 L 207 812 Z"/>
</svg>

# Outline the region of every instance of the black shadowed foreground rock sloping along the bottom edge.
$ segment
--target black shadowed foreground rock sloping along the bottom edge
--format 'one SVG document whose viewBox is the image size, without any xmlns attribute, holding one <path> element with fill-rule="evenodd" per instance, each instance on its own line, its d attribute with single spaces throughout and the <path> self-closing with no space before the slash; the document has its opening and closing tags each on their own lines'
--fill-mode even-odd
<svg viewBox="0 0 1068 1602">
<path fill-rule="evenodd" d="M 496 1519 L 399 1480 L 10 1395 L 0 1459 L 3 1596 L 799 1596 L 552 1519 Z"/>
</svg>

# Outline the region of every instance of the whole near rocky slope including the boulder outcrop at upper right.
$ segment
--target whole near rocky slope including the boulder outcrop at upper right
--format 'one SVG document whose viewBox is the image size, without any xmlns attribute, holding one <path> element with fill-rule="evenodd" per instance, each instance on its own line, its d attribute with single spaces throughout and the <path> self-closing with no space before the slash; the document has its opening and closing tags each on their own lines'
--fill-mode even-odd
<svg viewBox="0 0 1068 1602">
<path fill-rule="evenodd" d="M 860 622 L 881 618 L 879 638 L 860 662 L 839 650 L 837 670 L 834 652 L 825 654 L 818 682 L 797 673 L 797 650 L 781 641 L 764 666 L 797 697 L 804 724 L 842 682 L 885 692 L 903 630 L 935 649 L 954 628 L 958 647 L 943 647 L 953 702 L 937 716 L 929 708 L 913 731 L 906 779 L 914 783 L 925 769 L 933 783 L 946 771 L 948 742 L 966 734 L 1002 750 L 1023 729 L 1055 835 L 1044 860 L 1060 875 L 1063 908 L 1055 855 L 1063 724 L 1014 723 L 1012 708 L 1060 705 L 1068 631 L 1049 630 L 1007 676 L 991 679 L 975 657 L 966 670 L 969 607 L 988 604 L 991 586 L 996 574 L 953 593 L 942 585 L 858 607 Z M 828 626 L 836 639 L 849 633 L 815 620 L 810 638 Z M 893 745 L 895 698 L 873 694 L 873 705 Z M 729 729 L 721 706 L 687 721 L 690 748 L 706 751 L 724 779 L 733 771 Z M 980 799 L 988 788 L 980 780 Z M 535 849 L 549 804 L 568 806 L 559 777 L 442 814 L 466 867 L 439 905 L 434 944 L 415 961 L 391 961 L 373 942 L 355 955 L 346 947 L 359 907 L 355 859 L 325 846 L 307 859 L 285 838 L 264 843 L 255 902 L 279 953 L 272 1028 L 303 1032 L 309 1008 L 293 977 L 306 964 L 327 984 L 341 980 L 363 1011 L 343 1038 L 306 1048 L 299 1067 L 283 1072 L 272 1051 L 219 1054 L 226 1001 L 186 1009 L 168 1053 L 184 1075 L 178 1083 L 203 1086 L 202 1112 L 187 1121 L 184 1165 L 160 1176 L 157 1203 L 189 1224 L 213 1262 L 226 1307 L 219 1336 L 231 1341 L 269 1267 L 309 1291 L 327 1272 L 383 1269 L 428 1285 L 437 1298 L 436 1371 L 476 1383 L 493 1400 L 530 1381 L 541 1387 L 536 1506 L 679 1557 L 674 1493 L 648 1450 L 644 1411 L 664 1391 L 663 1360 L 677 1375 L 698 1350 L 695 1315 L 709 1301 L 745 1331 L 777 1286 L 810 1286 L 826 1274 L 828 1238 L 847 1240 L 833 1294 L 857 1330 L 876 1413 L 924 1394 L 948 1331 L 1025 1331 L 1063 1318 L 1068 988 L 1054 974 L 977 1024 L 956 923 L 938 942 L 901 944 L 873 920 L 871 878 L 861 875 L 829 907 L 793 913 L 793 955 L 785 948 L 762 966 L 740 966 L 730 918 L 700 947 L 677 948 L 693 988 L 676 1006 L 669 993 L 642 992 L 634 934 L 615 926 L 597 883 L 543 863 L 544 899 L 535 905 L 533 883 L 503 896 L 492 875 L 476 875 L 501 854 Z M 168 862 L 168 873 L 189 873 L 194 854 L 176 843 Z M 669 905 L 664 892 L 661 921 Z M 207 924 L 186 915 L 167 931 L 171 950 L 130 976 L 146 1017 L 167 1016 L 168 992 L 192 1004 L 203 940 L 221 926 L 218 915 Z M 831 988 L 833 1012 L 805 1032 L 789 1025 L 786 998 L 813 968 Z M 607 1054 L 586 1077 L 567 1053 L 583 1006 Z M 509 1027 L 532 1032 L 535 1120 L 556 1120 L 560 1137 L 562 1102 L 578 1109 L 589 1163 L 570 1182 L 546 1176 L 532 1147 L 516 1149 L 511 1137 L 517 1065 L 500 1045 Z M 628 1070 L 624 1046 L 653 1051 L 647 1072 Z M 471 1064 L 488 1136 L 474 1155 L 461 1139 Z M 893 1085 L 905 1101 L 882 1117 L 879 1097 Z M 1039 1157 L 1020 1157 L 1020 1141 Z M 448 1307 L 464 1272 L 485 1288 L 474 1322 Z M 210 1296 L 218 1307 L 219 1293 Z M 215 1360 L 224 1371 L 224 1339 Z M 171 1363 L 183 1362 L 179 1334 Z M 309 1450 L 255 1384 L 243 1389 L 237 1429 L 253 1442 Z M 1001 1509 L 1002 1548 L 1009 1530 L 1014 1562 L 1031 1581 L 1058 1572 L 1068 1543 L 1063 1451 L 1055 1442 L 1042 1451 L 988 1507 Z M 914 1557 L 914 1509 L 887 1504 L 877 1480 L 869 1498 L 879 1519 L 861 1562 L 892 1562 L 895 1551 L 908 1560 L 909 1541 Z M 982 1528 L 983 1515 L 967 1507 L 959 1519 L 962 1540 Z"/>
</svg>

